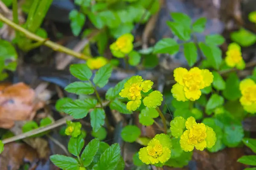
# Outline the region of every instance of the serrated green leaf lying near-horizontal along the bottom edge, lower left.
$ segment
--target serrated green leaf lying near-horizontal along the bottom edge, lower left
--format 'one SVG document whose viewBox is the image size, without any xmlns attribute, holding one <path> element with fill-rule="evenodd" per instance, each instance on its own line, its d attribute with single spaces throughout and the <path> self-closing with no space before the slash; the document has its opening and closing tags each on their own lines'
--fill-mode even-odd
<svg viewBox="0 0 256 170">
<path fill-rule="evenodd" d="M 64 155 L 52 155 L 50 160 L 57 167 L 64 170 L 79 170 L 79 163 L 76 159 Z"/>
</svg>

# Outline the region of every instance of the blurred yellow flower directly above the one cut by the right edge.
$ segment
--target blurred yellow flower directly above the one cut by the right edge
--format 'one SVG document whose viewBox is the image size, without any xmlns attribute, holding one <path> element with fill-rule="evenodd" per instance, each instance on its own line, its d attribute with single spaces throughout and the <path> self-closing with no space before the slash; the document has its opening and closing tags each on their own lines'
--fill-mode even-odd
<svg viewBox="0 0 256 170">
<path fill-rule="evenodd" d="M 237 43 L 233 42 L 228 45 L 225 62 L 231 68 L 244 69 L 245 62 L 241 54 L 241 47 Z"/>
</svg>

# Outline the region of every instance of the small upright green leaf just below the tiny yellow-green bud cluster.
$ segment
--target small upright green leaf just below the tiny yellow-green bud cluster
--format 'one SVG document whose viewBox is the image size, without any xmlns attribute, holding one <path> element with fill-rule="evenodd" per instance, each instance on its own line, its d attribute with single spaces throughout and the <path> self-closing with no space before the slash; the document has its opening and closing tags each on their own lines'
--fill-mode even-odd
<svg viewBox="0 0 256 170">
<path fill-rule="evenodd" d="M 67 145 L 68 151 L 74 156 L 79 156 L 83 147 L 84 147 L 84 139 L 82 138 L 81 135 L 79 135 L 77 138 L 71 137 Z"/>
</svg>

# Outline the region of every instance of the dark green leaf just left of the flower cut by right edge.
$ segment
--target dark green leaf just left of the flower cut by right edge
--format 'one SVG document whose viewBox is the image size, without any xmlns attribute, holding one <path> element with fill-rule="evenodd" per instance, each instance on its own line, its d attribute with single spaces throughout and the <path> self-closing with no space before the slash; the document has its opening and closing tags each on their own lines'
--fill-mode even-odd
<svg viewBox="0 0 256 170">
<path fill-rule="evenodd" d="M 231 73 L 226 80 L 226 86 L 223 91 L 223 95 L 228 100 L 236 100 L 239 99 L 241 96 L 241 92 L 239 90 L 239 77 L 236 73 Z"/>
</svg>

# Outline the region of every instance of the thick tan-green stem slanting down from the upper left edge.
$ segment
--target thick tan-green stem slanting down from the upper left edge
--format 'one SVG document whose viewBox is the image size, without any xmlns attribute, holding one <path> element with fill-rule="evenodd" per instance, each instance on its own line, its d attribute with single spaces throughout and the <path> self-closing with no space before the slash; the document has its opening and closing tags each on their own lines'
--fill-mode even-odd
<svg viewBox="0 0 256 170">
<path fill-rule="evenodd" d="M 27 31 L 26 29 L 22 28 L 21 26 L 13 23 L 11 20 L 4 17 L 3 14 L 0 14 L 0 21 L 2 21 L 3 23 L 6 23 L 7 25 L 9 25 L 10 27 L 14 28 L 17 31 L 22 32 L 26 37 L 30 38 L 31 40 L 35 40 L 37 42 L 44 42 L 45 41 L 44 38 L 39 37 L 38 35 L 33 34 L 32 32 Z M 49 48 L 52 48 L 54 51 L 60 51 L 60 52 L 72 55 L 72 56 L 74 56 L 76 58 L 79 58 L 79 59 L 86 60 L 86 59 L 90 58 L 89 56 L 85 56 L 84 54 L 75 52 L 75 51 L 73 51 L 69 48 L 66 48 L 66 47 L 64 47 L 62 45 L 59 45 L 59 44 L 57 44 L 55 42 L 52 42 L 52 41 L 46 41 L 46 42 L 44 42 L 44 45 L 46 45 Z"/>
</svg>

